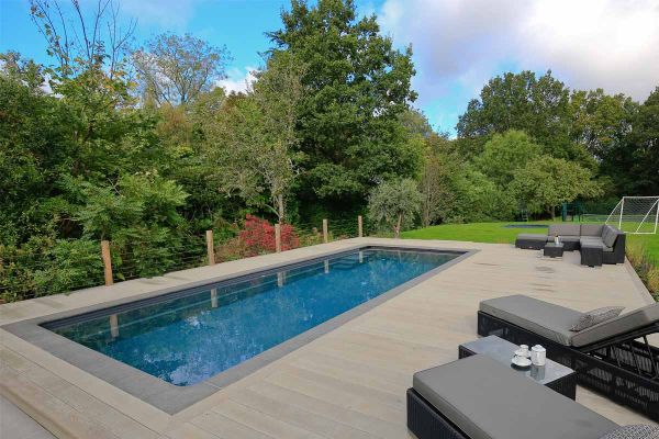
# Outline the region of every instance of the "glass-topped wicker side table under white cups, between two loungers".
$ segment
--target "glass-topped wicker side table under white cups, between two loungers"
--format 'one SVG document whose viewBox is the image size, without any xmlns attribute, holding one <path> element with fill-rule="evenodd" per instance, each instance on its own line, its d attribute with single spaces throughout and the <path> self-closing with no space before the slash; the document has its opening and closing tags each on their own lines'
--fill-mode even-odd
<svg viewBox="0 0 659 439">
<path fill-rule="evenodd" d="M 496 336 L 488 336 L 460 345 L 458 357 L 466 358 L 477 353 L 488 356 L 499 362 L 509 364 L 511 369 L 526 375 L 529 380 L 546 385 L 561 395 L 571 399 L 577 398 L 577 372 L 549 359 L 547 359 L 545 365 L 532 365 L 526 369 L 516 368 L 512 365 L 511 359 L 515 356 L 514 352 L 517 349 L 520 349 L 517 345 Z"/>
</svg>

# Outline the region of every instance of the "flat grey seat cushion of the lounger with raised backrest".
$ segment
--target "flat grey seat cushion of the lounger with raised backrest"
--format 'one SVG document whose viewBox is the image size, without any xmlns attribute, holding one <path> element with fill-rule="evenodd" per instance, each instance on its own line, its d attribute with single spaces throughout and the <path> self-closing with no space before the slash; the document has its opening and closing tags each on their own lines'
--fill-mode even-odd
<svg viewBox="0 0 659 439">
<path fill-rule="evenodd" d="M 480 311 L 565 346 L 570 346 L 577 334 L 570 328 L 581 317 L 578 311 L 522 294 L 482 301 Z"/>
</svg>

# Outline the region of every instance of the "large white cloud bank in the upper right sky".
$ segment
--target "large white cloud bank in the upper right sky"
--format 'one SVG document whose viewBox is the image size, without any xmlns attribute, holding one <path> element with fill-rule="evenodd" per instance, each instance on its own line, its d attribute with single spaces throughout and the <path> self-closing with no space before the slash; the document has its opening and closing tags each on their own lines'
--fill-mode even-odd
<svg viewBox="0 0 659 439">
<path fill-rule="evenodd" d="M 412 43 L 424 101 L 510 66 L 639 100 L 659 85 L 659 0 L 387 0 L 379 15 Z"/>
</svg>

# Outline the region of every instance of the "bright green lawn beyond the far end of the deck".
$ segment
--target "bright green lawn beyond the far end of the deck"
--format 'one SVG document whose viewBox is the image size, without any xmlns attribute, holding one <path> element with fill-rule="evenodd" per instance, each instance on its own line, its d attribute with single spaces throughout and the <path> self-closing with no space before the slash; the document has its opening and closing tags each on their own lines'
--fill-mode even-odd
<svg viewBox="0 0 659 439">
<path fill-rule="evenodd" d="M 471 223 L 471 224 L 443 224 L 416 230 L 403 232 L 403 238 L 415 239 L 447 239 L 468 240 L 473 243 L 513 244 L 515 236 L 521 233 L 546 233 L 544 228 L 505 228 L 506 224 L 535 224 L 535 223 Z M 551 224 L 550 221 L 540 221 L 537 224 Z M 577 223 L 576 223 L 577 224 Z M 657 235 L 627 235 L 629 243 L 643 243 L 650 257 L 659 264 L 659 234 Z"/>
</svg>

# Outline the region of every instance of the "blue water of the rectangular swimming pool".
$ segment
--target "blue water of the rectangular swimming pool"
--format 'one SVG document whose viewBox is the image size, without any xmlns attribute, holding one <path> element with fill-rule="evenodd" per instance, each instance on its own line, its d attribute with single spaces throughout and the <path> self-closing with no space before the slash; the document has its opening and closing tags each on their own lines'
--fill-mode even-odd
<svg viewBox="0 0 659 439">
<path fill-rule="evenodd" d="M 192 385 L 458 256 L 367 248 L 49 329 L 171 384 Z"/>
</svg>

